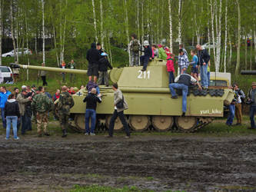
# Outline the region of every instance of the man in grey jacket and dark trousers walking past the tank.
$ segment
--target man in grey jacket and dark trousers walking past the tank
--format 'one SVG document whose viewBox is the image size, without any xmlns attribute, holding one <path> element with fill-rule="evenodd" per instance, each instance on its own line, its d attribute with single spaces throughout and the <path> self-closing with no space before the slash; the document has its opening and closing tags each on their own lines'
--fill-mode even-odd
<svg viewBox="0 0 256 192">
<path fill-rule="evenodd" d="M 114 126 L 115 126 L 115 120 L 119 117 L 121 124 L 124 125 L 125 127 L 125 133 L 126 136 L 125 138 L 130 138 L 130 131 L 128 127 L 128 123 L 125 120 L 125 114 L 124 111 L 128 109 L 128 104 L 125 101 L 124 95 L 122 94 L 121 90 L 118 89 L 118 84 L 113 84 L 112 89 L 115 91 L 114 94 L 114 108 L 115 111 L 111 117 L 110 124 L 109 124 L 109 129 L 108 129 L 108 135 L 105 137 L 113 137 L 113 131 L 114 131 Z"/>
</svg>

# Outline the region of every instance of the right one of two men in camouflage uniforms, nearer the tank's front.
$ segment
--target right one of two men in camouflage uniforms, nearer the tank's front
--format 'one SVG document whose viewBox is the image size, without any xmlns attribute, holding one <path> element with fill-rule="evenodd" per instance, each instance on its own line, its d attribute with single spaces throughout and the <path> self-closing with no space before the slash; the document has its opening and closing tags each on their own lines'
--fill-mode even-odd
<svg viewBox="0 0 256 192">
<path fill-rule="evenodd" d="M 71 94 L 68 93 L 67 87 L 62 87 L 62 94 L 59 97 L 58 100 L 58 117 L 59 121 L 62 127 L 62 137 L 67 137 L 67 128 L 68 128 L 68 118 L 70 114 L 70 108 L 74 106 L 74 100 L 71 96 Z"/>
</svg>

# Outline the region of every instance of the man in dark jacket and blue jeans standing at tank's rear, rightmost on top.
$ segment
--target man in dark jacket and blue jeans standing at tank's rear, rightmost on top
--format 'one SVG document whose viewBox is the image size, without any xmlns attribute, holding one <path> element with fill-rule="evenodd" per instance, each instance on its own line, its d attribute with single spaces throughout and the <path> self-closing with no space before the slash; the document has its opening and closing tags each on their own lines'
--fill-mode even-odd
<svg viewBox="0 0 256 192">
<path fill-rule="evenodd" d="M 201 76 L 201 85 L 203 88 L 208 88 L 208 62 L 210 61 L 210 55 L 206 49 L 203 49 L 201 45 L 197 45 L 198 49 L 198 60 L 200 65 L 200 76 Z"/>
</svg>

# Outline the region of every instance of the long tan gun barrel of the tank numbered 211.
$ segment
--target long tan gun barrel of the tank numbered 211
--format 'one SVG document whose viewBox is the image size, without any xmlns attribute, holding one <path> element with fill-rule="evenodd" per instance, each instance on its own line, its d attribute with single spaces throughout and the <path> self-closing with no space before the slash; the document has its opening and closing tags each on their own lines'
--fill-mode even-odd
<svg viewBox="0 0 256 192">
<path fill-rule="evenodd" d="M 69 68 L 50 68 L 50 67 L 42 67 L 35 65 L 19 65 L 20 68 L 24 69 L 34 69 L 34 70 L 42 70 L 42 71 L 54 71 L 54 72 L 65 72 L 65 73 L 74 73 L 74 74 L 87 74 L 87 70 L 81 69 L 69 69 Z"/>
</svg>

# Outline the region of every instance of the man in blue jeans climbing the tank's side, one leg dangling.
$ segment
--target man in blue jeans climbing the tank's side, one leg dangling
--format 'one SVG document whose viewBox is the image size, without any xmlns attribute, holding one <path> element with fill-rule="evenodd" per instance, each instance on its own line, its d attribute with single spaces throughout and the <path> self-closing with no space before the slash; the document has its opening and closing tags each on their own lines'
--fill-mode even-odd
<svg viewBox="0 0 256 192">
<path fill-rule="evenodd" d="M 178 75 L 178 77 L 175 78 L 175 83 L 169 84 L 171 98 L 178 98 L 175 89 L 182 90 L 182 117 L 185 116 L 185 113 L 187 111 L 188 87 L 192 84 L 198 84 L 198 88 L 201 90 L 201 85 L 199 84 L 199 82 L 189 74 Z"/>
</svg>

